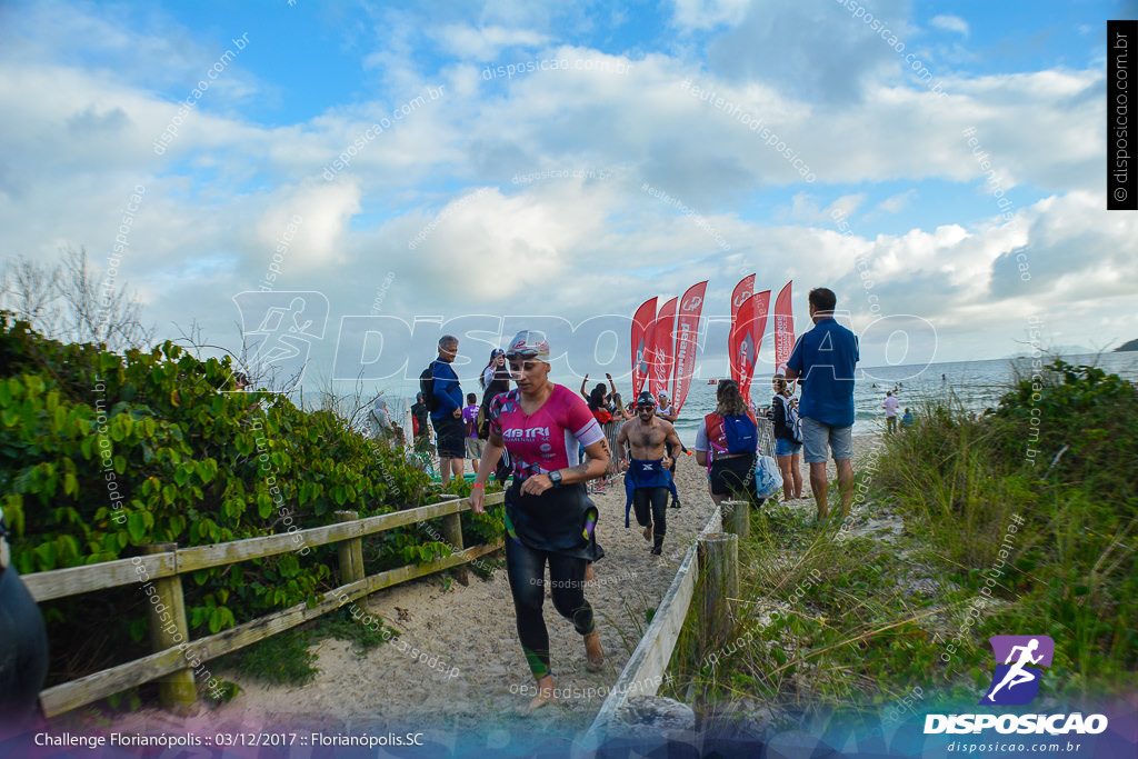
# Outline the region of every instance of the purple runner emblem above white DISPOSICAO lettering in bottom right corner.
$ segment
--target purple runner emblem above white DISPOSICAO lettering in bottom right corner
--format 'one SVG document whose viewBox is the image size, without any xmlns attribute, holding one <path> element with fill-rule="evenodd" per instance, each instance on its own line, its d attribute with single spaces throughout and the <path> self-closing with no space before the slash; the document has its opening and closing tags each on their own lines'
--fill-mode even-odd
<svg viewBox="0 0 1138 759">
<path fill-rule="evenodd" d="M 1050 667 L 1055 641 L 1046 635 L 993 635 L 988 638 L 996 657 L 996 671 L 981 706 L 1017 707 L 1031 703 L 1039 694 L 1042 669 Z M 1034 667 L 1029 666 L 1034 665 Z M 926 715 L 925 734 L 997 733 L 1097 735 L 1106 729 L 1104 715 Z"/>
</svg>

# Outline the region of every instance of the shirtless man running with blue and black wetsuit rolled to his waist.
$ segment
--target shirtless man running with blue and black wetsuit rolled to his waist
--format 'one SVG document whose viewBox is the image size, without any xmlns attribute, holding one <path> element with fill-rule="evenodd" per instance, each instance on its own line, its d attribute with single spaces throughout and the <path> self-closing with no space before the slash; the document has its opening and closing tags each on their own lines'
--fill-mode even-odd
<svg viewBox="0 0 1138 759">
<path fill-rule="evenodd" d="M 636 509 L 636 523 L 644 528 L 644 539 L 652 543 L 652 554 L 663 553 L 663 536 L 668 531 L 665 512 L 668 493 L 676 495 L 676 482 L 668 465 L 671 457 L 667 448 L 679 447 L 676 428 L 655 415 L 655 399 L 651 393 L 641 393 L 636 399 L 636 418 L 620 428 L 617 449 L 625 444 L 630 448 L 629 461 L 625 462 L 625 527 L 628 527 L 628 511 Z"/>
</svg>

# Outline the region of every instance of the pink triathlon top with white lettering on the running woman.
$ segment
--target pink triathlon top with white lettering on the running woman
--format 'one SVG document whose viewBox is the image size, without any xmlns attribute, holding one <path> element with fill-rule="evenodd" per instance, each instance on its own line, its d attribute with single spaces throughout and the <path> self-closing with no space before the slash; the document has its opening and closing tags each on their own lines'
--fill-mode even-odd
<svg viewBox="0 0 1138 759">
<path fill-rule="evenodd" d="M 502 436 L 513 475 L 525 479 L 580 463 L 579 447 L 604 439 L 585 402 L 561 385 L 533 414 L 521 410 L 518 388 L 490 401 L 490 435 Z"/>
</svg>

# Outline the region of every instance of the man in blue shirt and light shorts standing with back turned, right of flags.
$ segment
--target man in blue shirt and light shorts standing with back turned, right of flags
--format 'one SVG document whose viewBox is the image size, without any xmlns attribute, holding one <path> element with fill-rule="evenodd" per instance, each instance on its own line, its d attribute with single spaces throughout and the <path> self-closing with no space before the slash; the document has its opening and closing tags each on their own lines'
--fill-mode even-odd
<svg viewBox="0 0 1138 759">
<path fill-rule="evenodd" d="M 818 505 L 818 520 L 826 518 L 826 447 L 838 468 L 842 515 L 853 501 L 853 366 L 859 360 L 857 336 L 834 321 L 838 296 L 824 287 L 810 290 L 814 329 L 799 338 L 786 362 L 786 379 L 802 378 L 805 459 L 810 464 L 810 488 Z"/>
</svg>

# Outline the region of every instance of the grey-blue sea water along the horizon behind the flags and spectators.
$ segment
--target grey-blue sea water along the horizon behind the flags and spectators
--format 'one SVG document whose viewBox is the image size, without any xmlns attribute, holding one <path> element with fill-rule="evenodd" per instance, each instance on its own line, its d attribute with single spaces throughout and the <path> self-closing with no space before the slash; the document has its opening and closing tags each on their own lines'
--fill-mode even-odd
<svg viewBox="0 0 1138 759">
<path fill-rule="evenodd" d="M 1070 364 L 1097 365 L 1111 374 L 1138 382 L 1138 352 L 1104 353 L 1099 355 L 1063 356 Z M 1045 365 L 1049 358 L 1044 358 Z M 916 366 L 858 368 L 853 386 L 855 435 L 871 435 L 884 429 L 885 411 L 881 407 L 885 391 L 899 385 L 894 395 L 904 409 L 917 413 L 922 398 L 945 396 L 949 391 L 973 411 L 995 406 L 1007 391 L 1014 376 L 1014 365 L 1030 373 L 1030 358 L 993 358 L 990 361 L 957 361 Z M 943 374 L 943 380 L 941 376 Z M 751 386 L 751 399 L 761 406 L 770 405 L 770 378 L 760 376 Z M 876 386 L 876 387 L 874 387 Z M 692 447 L 695 431 L 704 414 L 715 411 L 715 385 L 696 380 L 681 410 L 676 431 L 684 445 Z M 801 395 L 801 390 L 795 391 Z"/>
</svg>

